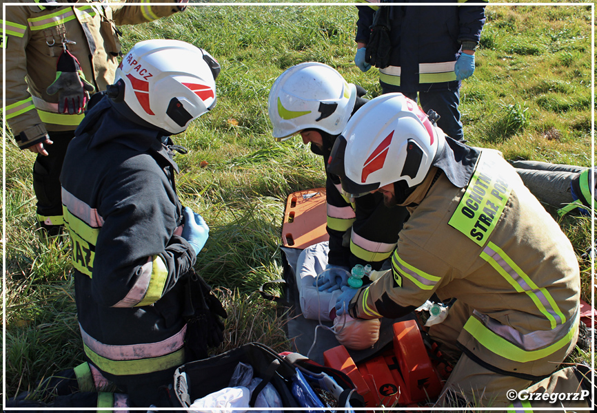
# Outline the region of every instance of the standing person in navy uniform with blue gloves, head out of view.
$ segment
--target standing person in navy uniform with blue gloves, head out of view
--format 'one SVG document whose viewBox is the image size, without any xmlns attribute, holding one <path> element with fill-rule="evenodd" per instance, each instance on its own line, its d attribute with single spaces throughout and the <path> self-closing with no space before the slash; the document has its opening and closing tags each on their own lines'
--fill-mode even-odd
<svg viewBox="0 0 597 413">
<path fill-rule="evenodd" d="M 385 1 L 381 1 L 384 3 Z M 372 1 L 371 3 L 379 3 Z M 438 126 L 447 136 L 463 140 L 458 111 L 461 81 L 475 70 L 475 50 L 485 24 L 485 6 L 425 6 L 425 1 L 404 1 L 404 6 L 358 6 L 354 63 L 363 72 L 373 54 L 379 67 L 382 92 L 402 92 L 427 113 L 441 118 Z M 441 0 L 435 3 L 454 3 Z M 389 39 L 378 42 L 372 25 L 374 13 L 387 21 Z M 378 56 L 384 56 L 379 59 Z"/>
</svg>

